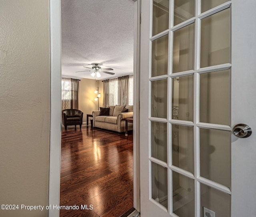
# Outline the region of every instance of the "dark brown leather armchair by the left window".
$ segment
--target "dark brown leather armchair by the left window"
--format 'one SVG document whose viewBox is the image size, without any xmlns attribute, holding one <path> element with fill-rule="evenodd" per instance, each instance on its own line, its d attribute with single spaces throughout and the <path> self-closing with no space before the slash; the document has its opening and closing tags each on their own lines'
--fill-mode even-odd
<svg viewBox="0 0 256 217">
<path fill-rule="evenodd" d="M 83 112 L 78 109 L 64 109 L 62 110 L 62 124 L 67 129 L 69 125 L 80 125 L 80 129 L 83 124 Z"/>
</svg>

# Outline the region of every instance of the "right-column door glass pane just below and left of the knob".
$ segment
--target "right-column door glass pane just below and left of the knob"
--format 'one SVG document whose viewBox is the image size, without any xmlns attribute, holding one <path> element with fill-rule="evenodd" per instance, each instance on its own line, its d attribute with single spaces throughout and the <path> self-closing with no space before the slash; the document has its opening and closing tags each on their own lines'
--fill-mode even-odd
<svg viewBox="0 0 256 217">
<path fill-rule="evenodd" d="M 200 128 L 200 175 L 230 188 L 230 132 Z"/>
</svg>

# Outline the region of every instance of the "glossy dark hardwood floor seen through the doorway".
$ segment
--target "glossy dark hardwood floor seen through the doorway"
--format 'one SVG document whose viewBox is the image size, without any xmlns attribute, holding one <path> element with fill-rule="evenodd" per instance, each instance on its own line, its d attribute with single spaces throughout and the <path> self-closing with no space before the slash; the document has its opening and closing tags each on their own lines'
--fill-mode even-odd
<svg viewBox="0 0 256 217">
<path fill-rule="evenodd" d="M 60 217 L 120 217 L 133 207 L 132 131 L 83 125 L 63 129 L 61 142 Z"/>
</svg>

